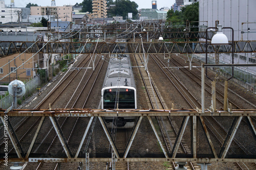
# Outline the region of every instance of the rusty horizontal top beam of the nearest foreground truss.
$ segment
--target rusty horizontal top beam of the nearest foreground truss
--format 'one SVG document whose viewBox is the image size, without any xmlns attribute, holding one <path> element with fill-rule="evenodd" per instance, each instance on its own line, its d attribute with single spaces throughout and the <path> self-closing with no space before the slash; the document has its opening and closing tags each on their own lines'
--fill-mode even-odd
<svg viewBox="0 0 256 170">
<path fill-rule="evenodd" d="M 7 113 L 6 109 L 0 109 L 0 116 L 73 116 L 73 117 L 91 117 L 91 116 L 256 116 L 256 110 L 232 109 L 232 112 L 220 111 L 205 113 L 194 109 L 150 109 L 150 110 L 115 110 L 115 109 L 13 109 Z"/>
</svg>

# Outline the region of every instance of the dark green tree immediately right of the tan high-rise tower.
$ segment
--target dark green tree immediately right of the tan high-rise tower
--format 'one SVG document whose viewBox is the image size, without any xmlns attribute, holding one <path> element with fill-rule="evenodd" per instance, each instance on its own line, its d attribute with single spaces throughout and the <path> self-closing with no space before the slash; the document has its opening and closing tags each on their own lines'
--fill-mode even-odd
<svg viewBox="0 0 256 170">
<path fill-rule="evenodd" d="M 108 15 L 123 16 L 126 18 L 128 13 L 133 13 L 133 18 L 136 18 L 138 13 L 138 4 L 131 2 L 130 0 L 116 0 L 115 2 L 109 1 L 108 5 L 116 5 L 108 11 Z"/>
</svg>

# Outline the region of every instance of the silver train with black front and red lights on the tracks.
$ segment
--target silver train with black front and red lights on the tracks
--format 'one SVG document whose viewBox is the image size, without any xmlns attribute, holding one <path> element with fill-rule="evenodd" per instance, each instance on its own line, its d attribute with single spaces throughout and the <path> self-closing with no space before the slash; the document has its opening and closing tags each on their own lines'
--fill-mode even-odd
<svg viewBox="0 0 256 170">
<path fill-rule="evenodd" d="M 102 109 L 137 109 L 137 96 L 129 55 L 110 58 L 101 89 Z"/>
</svg>

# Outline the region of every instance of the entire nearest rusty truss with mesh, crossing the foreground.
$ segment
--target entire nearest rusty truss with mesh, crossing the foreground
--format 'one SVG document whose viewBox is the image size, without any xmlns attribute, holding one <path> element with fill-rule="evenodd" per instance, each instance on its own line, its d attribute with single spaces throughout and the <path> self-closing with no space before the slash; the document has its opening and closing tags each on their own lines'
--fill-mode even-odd
<svg viewBox="0 0 256 170">
<path fill-rule="evenodd" d="M 9 161 L 19 162 L 256 161 L 256 110 L 1 110 L 0 116 L 1 161 L 6 144 Z M 133 121 L 117 127 L 110 119 Z"/>
</svg>

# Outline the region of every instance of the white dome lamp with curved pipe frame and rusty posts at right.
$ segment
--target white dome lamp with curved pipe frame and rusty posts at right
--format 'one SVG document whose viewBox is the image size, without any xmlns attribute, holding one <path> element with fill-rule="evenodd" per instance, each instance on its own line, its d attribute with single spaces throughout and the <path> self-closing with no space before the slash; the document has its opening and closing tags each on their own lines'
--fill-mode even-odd
<svg viewBox="0 0 256 170">
<path fill-rule="evenodd" d="M 234 30 L 233 28 L 231 27 L 223 27 L 222 28 L 222 25 L 218 25 L 217 27 L 209 27 L 206 29 L 206 40 L 205 40 L 205 43 L 206 43 L 206 49 L 205 49 L 205 63 L 208 64 L 208 56 L 207 56 L 207 48 L 208 48 L 208 43 L 207 43 L 207 33 L 208 33 L 208 29 L 218 29 L 218 32 L 217 34 L 215 34 L 212 39 L 211 39 L 211 45 L 231 45 L 231 48 L 232 48 L 232 64 L 234 63 L 234 60 L 233 60 L 233 56 L 234 56 Z M 231 43 L 228 43 L 228 39 L 227 39 L 227 36 L 223 34 L 222 30 L 223 29 L 231 29 L 232 31 L 232 42 Z M 217 48 L 217 51 L 219 50 L 219 48 Z M 204 69 L 202 67 L 202 69 Z M 234 72 L 234 68 L 232 66 L 232 75 L 230 78 L 228 78 L 226 81 L 225 81 L 225 87 L 224 87 L 224 110 L 226 111 L 227 110 L 227 103 L 228 103 L 228 99 L 227 99 L 227 90 L 228 90 L 228 87 L 227 87 L 227 81 L 230 80 L 231 78 L 233 78 L 233 72 Z M 208 74 L 207 74 L 207 66 L 205 68 L 205 75 L 208 79 L 210 79 L 208 77 Z M 216 111 L 216 90 L 215 90 L 215 84 L 216 82 L 212 79 L 211 80 L 211 83 L 212 83 L 212 102 L 211 102 L 211 111 L 215 112 Z M 202 75 L 202 86 L 204 84 L 204 76 Z M 202 88 L 202 112 L 204 112 L 204 89 Z"/>
</svg>

